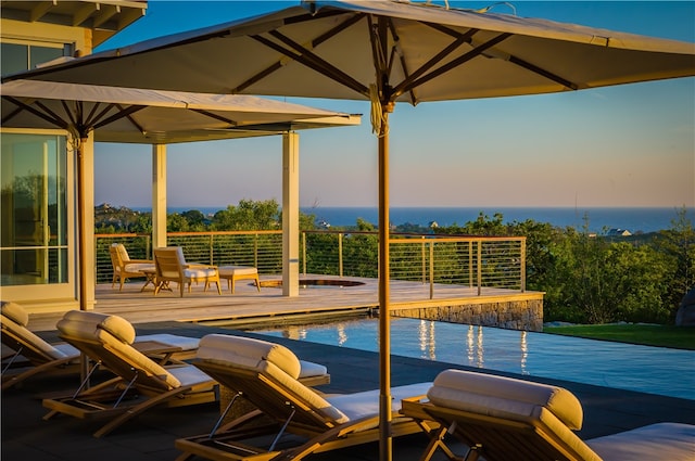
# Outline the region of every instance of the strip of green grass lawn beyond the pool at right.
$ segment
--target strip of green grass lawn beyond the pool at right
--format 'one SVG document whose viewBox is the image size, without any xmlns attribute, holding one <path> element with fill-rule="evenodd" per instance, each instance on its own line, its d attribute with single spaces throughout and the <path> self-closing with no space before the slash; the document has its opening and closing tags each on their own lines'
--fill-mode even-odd
<svg viewBox="0 0 695 461">
<path fill-rule="evenodd" d="M 568 325 L 546 326 L 543 329 L 543 333 L 695 350 L 695 328 L 687 326 L 642 324 Z"/>
</svg>

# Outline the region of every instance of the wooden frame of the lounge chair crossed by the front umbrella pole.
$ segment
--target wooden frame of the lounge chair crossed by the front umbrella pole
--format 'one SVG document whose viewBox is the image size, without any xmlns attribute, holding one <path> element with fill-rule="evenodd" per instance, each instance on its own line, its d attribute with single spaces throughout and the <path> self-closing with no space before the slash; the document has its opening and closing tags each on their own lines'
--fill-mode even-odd
<svg viewBox="0 0 695 461">
<path fill-rule="evenodd" d="M 204 349 L 203 344 L 208 336 L 201 340 L 199 354 Z M 182 451 L 178 461 L 195 456 L 216 461 L 301 460 L 311 453 L 379 439 L 378 414 L 342 421 L 331 415 L 334 408 L 323 397 L 275 364 L 230 366 L 208 359 L 195 359 L 193 364 L 222 385 L 236 389 L 236 398 L 245 399 L 256 409 L 227 424 L 218 422 L 210 434 L 177 439 L 175 447 Z M 264 367 L 267 368 L 264 370 Z M 404 386 L 403 389 L 409 387 Z M 421 388 L 422 385 L 419 386 Z M 235 399 L 228 409 L 233 404 Z M 421 432 L 424 426 L 431 430 L 427 423 L 404 418 L 397 411 L 393 417 L 393 437 Z M 276 448 L 282 436 L 288 434 L 293 437 L 293 444 L 282 449 Z M 262 436 L 268 441 L 265 447 L 247 441 L 251 437 Z"/>
</svg>

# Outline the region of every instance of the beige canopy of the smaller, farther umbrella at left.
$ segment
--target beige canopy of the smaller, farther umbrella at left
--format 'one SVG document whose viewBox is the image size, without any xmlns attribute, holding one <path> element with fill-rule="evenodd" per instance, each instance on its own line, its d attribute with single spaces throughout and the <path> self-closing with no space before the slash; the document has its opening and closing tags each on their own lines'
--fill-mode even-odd
<svg viewBox="0 0 695 461">
<path fill-rule="evenodd" d="M 249 95 L 143 90 L 40 80 L 0 86 L 2 126 L 63 128 L 100 142 L 175 142 L 355 125 L 359 117 Z"/>
</svg>

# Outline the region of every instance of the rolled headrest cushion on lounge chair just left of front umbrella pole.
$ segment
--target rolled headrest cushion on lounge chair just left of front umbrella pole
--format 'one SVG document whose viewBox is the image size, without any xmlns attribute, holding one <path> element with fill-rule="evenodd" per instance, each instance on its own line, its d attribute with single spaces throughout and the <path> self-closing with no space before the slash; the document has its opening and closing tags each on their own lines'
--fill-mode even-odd
<svg viewBox="0 0 695 461">
<path fill-rule="evenodd" d="M 257 369 L 261 362 L 266 360 L 294 380 L 300 376 L 302 369 L 296 356 L 280 344 L 227 334 L 203 336 L 198 348 L 198 358 L 252 369 Z"/>
</svg>

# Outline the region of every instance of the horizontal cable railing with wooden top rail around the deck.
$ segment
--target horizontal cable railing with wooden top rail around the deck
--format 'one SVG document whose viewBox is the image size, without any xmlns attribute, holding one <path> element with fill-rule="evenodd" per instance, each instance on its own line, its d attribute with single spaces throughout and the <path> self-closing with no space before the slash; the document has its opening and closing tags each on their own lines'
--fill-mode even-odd
<svg viewBox="0 0 695 461">
<path fill-rule="evenodd" d="M 169 232 L 168 245 L 181 246 L 187 261 L 216 266 L 253 266 L 261 274 L 282 273 L 282 231 Z M 123 243 L 131 258 L 151 259 L 150 234 L 97 234 L 97 281 L 111 281 L 112 243 Z M 379 276 L 378 234 L 355 231 L 303 231 L 303 274 Z M 526 238 L 450 236 L 394 233 L 390 239 L 392 280 L 526 291 Z"/>
</svg>

